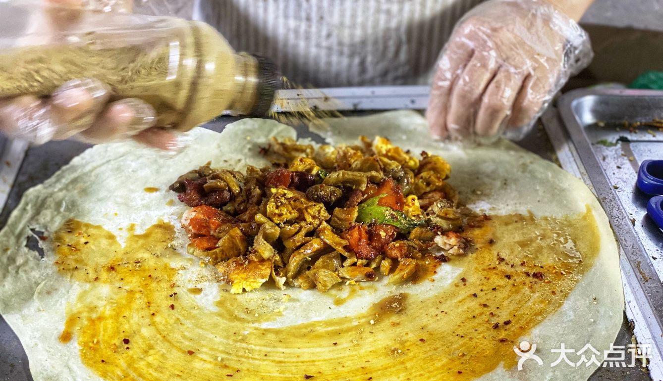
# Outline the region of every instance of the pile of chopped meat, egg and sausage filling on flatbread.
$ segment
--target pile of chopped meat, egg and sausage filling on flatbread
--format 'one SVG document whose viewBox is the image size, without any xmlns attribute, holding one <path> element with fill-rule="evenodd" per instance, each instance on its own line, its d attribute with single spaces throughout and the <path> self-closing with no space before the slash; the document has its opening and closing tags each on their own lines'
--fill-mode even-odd
<svg viewBox="0 0 663 381">
<path fill-rule="evenodd" d="M 182 216 L 188 252 L 215 266 L 231 292 L 412 280 L 420 266 L 471 252 L 477 218 L 447 184 L 450 165 L 377 137 L 359 145 L 272 138 L 271 168 L 245 172 L 208 163 L 170 186 L 191 207 Z"/>
</svg>

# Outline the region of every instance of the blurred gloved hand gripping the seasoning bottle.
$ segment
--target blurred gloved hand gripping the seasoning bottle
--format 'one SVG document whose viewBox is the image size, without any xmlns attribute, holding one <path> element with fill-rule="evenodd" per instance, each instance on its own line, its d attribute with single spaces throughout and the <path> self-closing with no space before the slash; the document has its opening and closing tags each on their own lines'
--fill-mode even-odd
<svg viewBox="0 0 663 381">
<path fill-rule="evenodd" d="M 58 32 L 76 23 L 83 9 L 131 11 L 131 0 L 47 0 L 42 18 L 33 20 L 45 34 Z M 109 103 L 107 85 L 93 78 L 64 83 L 50 97 L 23 95 L 0 99 L 0 131 L 42 144 L 49 140 L 76 138 L 100 143 L 134 138 L 149 146 L 175 150 L 182 144 L 169 131 L 151 128 L 156 123 L 154 109 L 141 99 L 121 99 Z"/>
</svg>

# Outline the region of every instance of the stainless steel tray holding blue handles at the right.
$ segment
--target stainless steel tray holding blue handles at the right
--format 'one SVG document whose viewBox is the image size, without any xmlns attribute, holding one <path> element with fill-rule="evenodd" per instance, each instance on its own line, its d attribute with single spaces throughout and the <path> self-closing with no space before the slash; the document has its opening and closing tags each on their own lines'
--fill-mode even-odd
<svg viewBox="0 0 663 381">
<path fill-rule="evenodd" d="M 663 377 L 663 231 L 646 216 L 648 197 L 635 183 L 642 160 L 663 158 L 663 129 L 645 124 L 657 118 L 663 92 L 627 89 L 571 91 L 543 117 L 560 164 L 585 181 L 610 219 L 627 313 L 638 341 L 653 345 L 655 380 Z"/>
</svg>

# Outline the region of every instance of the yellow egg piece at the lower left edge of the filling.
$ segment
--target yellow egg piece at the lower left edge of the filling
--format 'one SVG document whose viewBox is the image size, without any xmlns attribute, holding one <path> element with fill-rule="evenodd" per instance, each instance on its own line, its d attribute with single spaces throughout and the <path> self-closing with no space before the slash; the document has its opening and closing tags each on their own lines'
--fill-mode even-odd
<svg viewBox="0 0 663 381">
<path fill-rule="evenodd" d="M 272 261 L 249 260 L 238 256 L 217 264 L 216 269 L 231 284 L 231 294 L 241 294 L 243 290 L 255 290 L 267 282 L 272 274 Z"/>
</svg>

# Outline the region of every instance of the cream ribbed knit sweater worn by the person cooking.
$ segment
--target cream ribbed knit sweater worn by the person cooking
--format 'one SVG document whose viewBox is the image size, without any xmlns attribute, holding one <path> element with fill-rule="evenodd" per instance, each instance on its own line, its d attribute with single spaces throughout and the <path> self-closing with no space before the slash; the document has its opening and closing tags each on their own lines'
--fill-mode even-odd
<svg viewBox="0 0 663 381">
<path fill-rule="evenodd" d="M 455 22 L 481 0 L 149 0 L 193 16 L 302 85 L 427 83 Z M 196 3 L 194 3 L 196 1 Z"/>
</svg>

